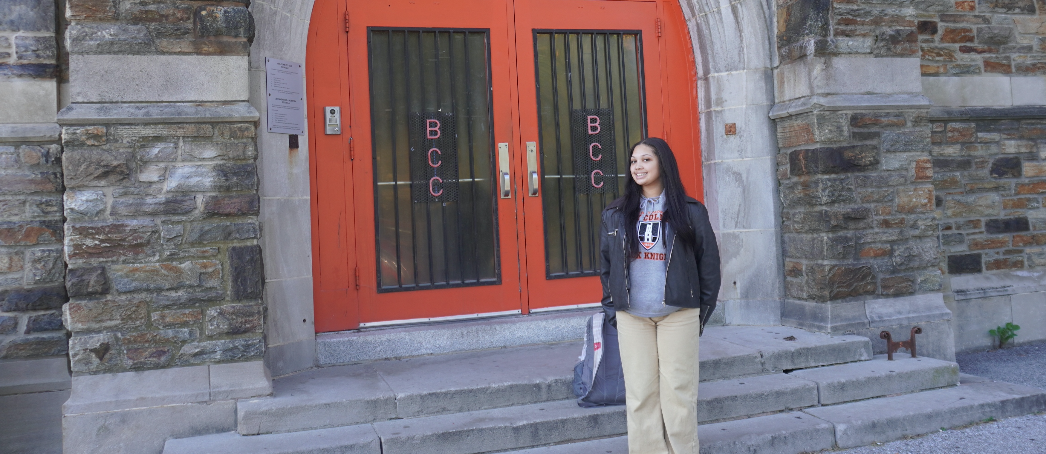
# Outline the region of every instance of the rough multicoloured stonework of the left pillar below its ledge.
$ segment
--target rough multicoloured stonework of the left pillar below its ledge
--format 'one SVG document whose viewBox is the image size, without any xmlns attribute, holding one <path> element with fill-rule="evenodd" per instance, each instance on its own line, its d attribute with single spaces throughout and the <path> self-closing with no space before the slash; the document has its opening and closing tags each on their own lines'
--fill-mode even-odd
<svg viewBox="0 0 1046 454">
<path fill-rule="evenodd" d="M 63 128 L 76 374 L 259 359 L 253 123 Z"/>
</svg>

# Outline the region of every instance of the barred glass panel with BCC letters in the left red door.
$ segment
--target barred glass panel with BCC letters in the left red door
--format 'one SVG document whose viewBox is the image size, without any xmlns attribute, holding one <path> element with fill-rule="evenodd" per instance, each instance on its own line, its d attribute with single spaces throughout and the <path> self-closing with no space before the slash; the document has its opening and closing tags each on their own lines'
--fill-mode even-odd
<svg viewBox="0 0 1046 454">
<path fill-rule="evenodd" d="M 498 284 L 487 30 L 368 38 L 378 291 Z"/>
</svg>

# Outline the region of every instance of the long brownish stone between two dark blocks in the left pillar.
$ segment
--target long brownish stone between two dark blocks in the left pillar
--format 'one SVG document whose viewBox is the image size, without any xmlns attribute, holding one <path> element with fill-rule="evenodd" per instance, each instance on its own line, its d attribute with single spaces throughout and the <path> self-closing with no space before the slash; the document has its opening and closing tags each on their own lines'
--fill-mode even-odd
<svg viewBox="0 0 1046 454">
<path fill-rule="evenodd" d="M 222 285 L 222 264 L 213 260 L 112 265 L 109 271 L 113 286 L 119 292 Z"/>
</svg>

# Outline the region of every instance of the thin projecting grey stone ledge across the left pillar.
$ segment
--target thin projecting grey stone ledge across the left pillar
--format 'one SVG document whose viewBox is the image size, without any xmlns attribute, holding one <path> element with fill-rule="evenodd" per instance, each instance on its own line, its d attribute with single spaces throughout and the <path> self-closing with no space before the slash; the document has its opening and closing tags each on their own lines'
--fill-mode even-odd
<svg viewBox="0 0 1046 454">
<path fill-rule="evenodd" d="M 59 124 L 184 123 L 257 121 L 248 102 L 72 103 L 59 112 Z"/>
</svg>

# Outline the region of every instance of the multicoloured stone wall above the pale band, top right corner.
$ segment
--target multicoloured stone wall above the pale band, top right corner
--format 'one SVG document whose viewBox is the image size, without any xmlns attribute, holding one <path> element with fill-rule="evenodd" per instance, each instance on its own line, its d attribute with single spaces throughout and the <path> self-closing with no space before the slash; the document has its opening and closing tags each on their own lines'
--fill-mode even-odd
<svg viewBox="0 0 1046 454">
<path fill-rule="evenodd" d="M 1046 2 L 959 0 L 918 13 L 924 75 L 1046 75 Z"/>
</svg>

